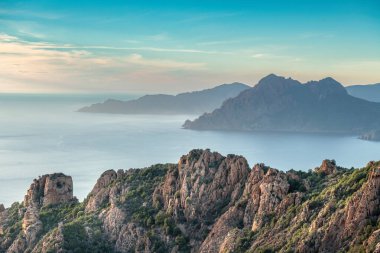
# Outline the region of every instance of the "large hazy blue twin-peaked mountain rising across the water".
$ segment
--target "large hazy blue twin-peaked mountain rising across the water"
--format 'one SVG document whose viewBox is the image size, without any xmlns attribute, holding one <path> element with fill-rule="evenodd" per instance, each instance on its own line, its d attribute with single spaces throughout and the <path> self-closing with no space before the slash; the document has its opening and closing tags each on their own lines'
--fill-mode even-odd
<svg viewBox="0 0 380 253">
<path fill-rule="evenodd" d="M 380 103 L 349 95 L 330 77 L 302 84 L 271 74 L 184 128 L 362 134 L 380 128 Z"/>
</svg>

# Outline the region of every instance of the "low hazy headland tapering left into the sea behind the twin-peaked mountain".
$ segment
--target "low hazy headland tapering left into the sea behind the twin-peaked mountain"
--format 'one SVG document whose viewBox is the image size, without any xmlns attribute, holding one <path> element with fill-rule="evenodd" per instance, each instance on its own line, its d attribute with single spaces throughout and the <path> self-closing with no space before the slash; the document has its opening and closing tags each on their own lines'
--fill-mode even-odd
<svg viewBox="0 0 380 253">
<path fill-rule="evenodd" d="M 248 88 L 250 86 L 235 82 L 178 95 L 146 95 L 130 101 L 109 99 L 78 111 L 115 114 L 202 114 L 213 111 L 226 99 L 235 97 Z"/>
</svg>

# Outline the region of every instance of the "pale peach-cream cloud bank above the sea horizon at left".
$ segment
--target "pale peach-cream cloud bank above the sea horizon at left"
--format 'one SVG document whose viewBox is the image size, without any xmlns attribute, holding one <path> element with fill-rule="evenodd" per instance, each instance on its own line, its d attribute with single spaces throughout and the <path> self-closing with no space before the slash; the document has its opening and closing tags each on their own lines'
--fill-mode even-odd
<svg viewBox="0 0 380 253">
<path fill-rule="evenodd" d="M 147 58 L 142 54 L 98 55 L 85 47 L 30 42 L 0 34 L 0 91 L 91 90 L 125 82 L 173 82 L 172 71 L 202 71 L 205 63 Z M 64 50 L 63 50 L 64 49 Z M 137 85 L 137 86 L 136 86 Z M 133 88 L 132 88 L 133 89 Z"/>
</svg>

